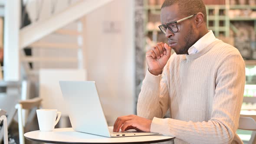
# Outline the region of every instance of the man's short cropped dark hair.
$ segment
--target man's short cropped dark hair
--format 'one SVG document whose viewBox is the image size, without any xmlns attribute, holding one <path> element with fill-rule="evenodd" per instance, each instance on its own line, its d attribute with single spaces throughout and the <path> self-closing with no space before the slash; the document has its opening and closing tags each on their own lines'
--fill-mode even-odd
<svg viewBox="0 0 256 144">
<path fill-rule="evenodd" d="M 203 0 L 164 0 L 161 9 L 164 7 L 170 7 L 174 4 L 178 4 L 179 12 L 185 16 L 203 13 L 204 22 L 207 22 L 206 8 Z"/>
</svg>

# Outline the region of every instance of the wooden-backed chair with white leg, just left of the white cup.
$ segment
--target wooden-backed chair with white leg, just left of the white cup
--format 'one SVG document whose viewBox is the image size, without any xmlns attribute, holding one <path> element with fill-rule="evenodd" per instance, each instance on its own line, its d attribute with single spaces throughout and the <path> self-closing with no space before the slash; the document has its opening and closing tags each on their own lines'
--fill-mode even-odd
<svg viewBox="0 0 256 144">
<path fill-rule="evenodd" d="M 15 108 L 17 109 L 18 112 L 18 124 L 19 124 L 19 139 L 20 139 L 20 144 L 25 144 L 25 139 L 24 139 L 24 131 L 30 129 L 30 122 L 34 120 L 36 116 L 36 109 L 39 109 L 41 106 L 41 101 L 42 98 L 32 98 L 29 100 L 24 100 L 20 101 Z M 28 115 L 26 124 L 25 122 L 23 123 L 23 113 L 22 110 L 30 110 L 30 113 Z M 25 130 L 24 130 L 25 128 Z"/>
</svg>

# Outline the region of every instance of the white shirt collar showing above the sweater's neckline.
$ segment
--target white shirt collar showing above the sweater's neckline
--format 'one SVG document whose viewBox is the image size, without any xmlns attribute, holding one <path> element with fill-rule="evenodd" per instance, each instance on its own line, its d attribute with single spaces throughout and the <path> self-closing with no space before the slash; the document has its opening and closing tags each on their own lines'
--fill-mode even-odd
<svg viewBox="0 0 256 144">
<path fill-rule="evenodd" d="M 218 40 L 218 39 L 214 36 L 213 31 L 209 30 L 206 35 L 201 37 L 196 43 L 194 43 L 193 46 L 191 46 L 188 49 L 188 54 L 192 55 L 192 54 L 195 54 L 197 52 L 200 52 L 205 47 L 207 47 L 210 43 L 213 43 L 216 40 Z"/>
</svg>

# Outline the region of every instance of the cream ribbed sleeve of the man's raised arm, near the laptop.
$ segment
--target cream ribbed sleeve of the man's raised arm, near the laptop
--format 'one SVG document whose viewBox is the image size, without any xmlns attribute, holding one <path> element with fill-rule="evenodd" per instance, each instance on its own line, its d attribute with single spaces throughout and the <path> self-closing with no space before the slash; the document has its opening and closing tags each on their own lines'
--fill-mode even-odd
<svg viewBox="0 0 256 144">
<path fill-rule="evenodd" d="M 169 92 L 166 82 L 166 69 L 162 75 L 146 72 L 137 103 L 137 115 L 143 118 L 162 118 L 169 108 Z"/>
</svg>

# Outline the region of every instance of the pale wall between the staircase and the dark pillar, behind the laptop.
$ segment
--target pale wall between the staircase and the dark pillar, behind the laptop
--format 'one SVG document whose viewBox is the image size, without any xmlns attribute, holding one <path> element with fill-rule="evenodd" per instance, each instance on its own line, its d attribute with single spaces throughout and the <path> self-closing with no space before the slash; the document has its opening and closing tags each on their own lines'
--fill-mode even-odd
<svg viewBox="0 0 256 144">
<path fill-rule="evenodd" d="M 114 0 L 86 15 L 87 78 L 96 82 L 110 125 L 135 113 L 134 7 L 134 0 Z"/>
</svg>

